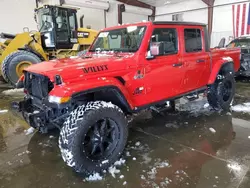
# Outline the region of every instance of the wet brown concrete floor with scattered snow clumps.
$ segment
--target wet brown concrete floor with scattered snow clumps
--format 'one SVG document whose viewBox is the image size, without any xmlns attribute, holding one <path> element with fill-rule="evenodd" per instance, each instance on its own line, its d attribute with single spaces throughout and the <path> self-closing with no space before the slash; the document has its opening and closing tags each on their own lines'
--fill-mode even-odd
<svg viewBox="0 0 250 188">
<path fill-rule="evenodd" d="M 249 94 L 249 83 L 238 83 L 235 103 L 250 101 Z M 9 110 L 20 96 L 0 98 L 0 110 Z M 25 135 L 29 127 L 19 114 L 0 113 L 0 187 L 249 188 L 250 114 L 219 114 L 205 103 L 182 104 L 181 112 L 166 116 L 138 115 L 121 172 L 98 182 L 84 181 L 64 164 L 58 132 Z"/>
</svg>

